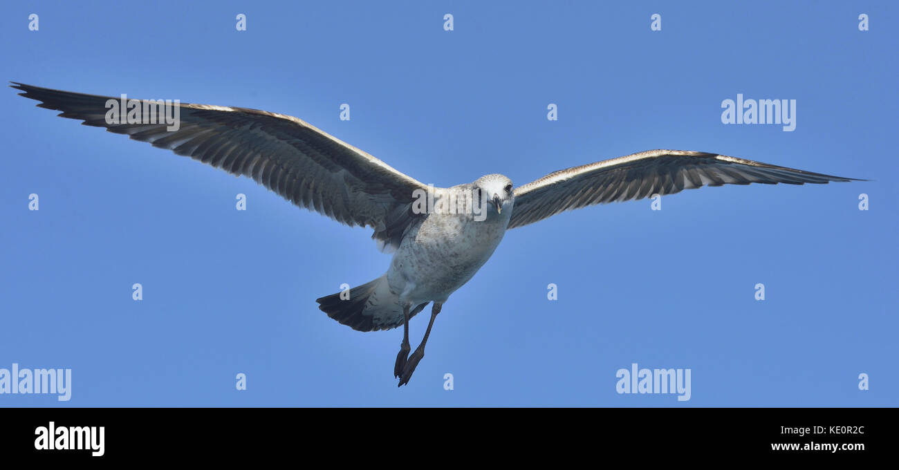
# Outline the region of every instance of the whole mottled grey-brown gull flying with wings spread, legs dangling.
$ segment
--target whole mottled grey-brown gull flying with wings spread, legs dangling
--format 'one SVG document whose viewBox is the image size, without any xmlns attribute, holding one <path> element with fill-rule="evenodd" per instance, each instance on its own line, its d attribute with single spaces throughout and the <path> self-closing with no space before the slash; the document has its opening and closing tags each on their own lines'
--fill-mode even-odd
<svg viewBox="0 0 899 470">
<path fill-rule="evenodd" d="M 248 176 L 301 208 L 348 226 L 373 228 L 378 248 L 394 253 L 387 273 L 316 302 L 328 316 L 361 332 L 403 325 L 394 365 L 398 386 L 409 382 L 423 358 L 443 303 L 484 265 L 509 228 L 574 208 L 700 186 L 855 180 L 706 152 L 650 150 L 549 173 L 519 187 L 502 174 L 487 174 L 451 188 L 433 188 L 284 114 L 174 103 L 180 125 L 168 126 L 147 119 L 150 102 L 145 100 L 140 101 L 145 113 L 139 121 L 146 124 L 120 123 L 109 119 L 107 104 L 119 98 L 16 82 L 11 86 L 39 101 L 41 108 L 62 111 L 60 117 Z M 410 354 L 409 319 L 432 302 L 431 321 Z"/>
</svg>

